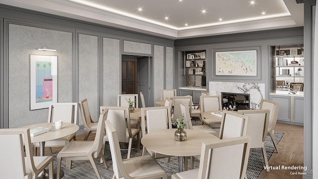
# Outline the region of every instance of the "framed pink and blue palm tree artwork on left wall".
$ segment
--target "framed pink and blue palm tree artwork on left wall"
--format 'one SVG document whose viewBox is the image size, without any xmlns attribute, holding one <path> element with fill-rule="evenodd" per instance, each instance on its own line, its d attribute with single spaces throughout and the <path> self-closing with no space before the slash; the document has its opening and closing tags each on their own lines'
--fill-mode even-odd
<svg viewBox="0 0 318 179">
<path fill-rule="evenodd" d="M 58 56 L 30 55 L 30 110 L 57 102 L 57 65 Z"/>
</svg>

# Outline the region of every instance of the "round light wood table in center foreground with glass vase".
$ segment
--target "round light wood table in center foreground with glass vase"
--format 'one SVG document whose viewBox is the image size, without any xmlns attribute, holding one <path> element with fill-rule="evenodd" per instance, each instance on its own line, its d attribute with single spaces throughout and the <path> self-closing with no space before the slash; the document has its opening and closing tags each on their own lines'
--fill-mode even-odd
<svg viewBox="0 0 318 179">
<path fill-rule="evenodd" d="M 201 155 L 202 142 L 220 140 L 215 135 L 193 129 L 184 129 L 187 133 L 186 141 L 175 141 L 174 132 L 177 129 L 164 129 L 146 134 L 141 143 L 147 149 L 168 156 L 177 156 L 179 172 L 182 172 L 183 157 Z"/>
</svg>

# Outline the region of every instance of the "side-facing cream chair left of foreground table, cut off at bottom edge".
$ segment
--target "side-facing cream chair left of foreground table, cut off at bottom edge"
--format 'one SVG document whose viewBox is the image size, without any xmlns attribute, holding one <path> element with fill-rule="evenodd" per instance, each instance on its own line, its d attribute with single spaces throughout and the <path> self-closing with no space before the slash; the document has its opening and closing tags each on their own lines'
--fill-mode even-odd
<svg viewBox="0 0 318 179">
<path fill-rule="evenodd" d="M 167 174 L 150 155 L 122 160 L 118 135 L 109 120 L 106 120 L 106 131 L 113 162 L 113 179 L 167 179 Z"/>
</svg>

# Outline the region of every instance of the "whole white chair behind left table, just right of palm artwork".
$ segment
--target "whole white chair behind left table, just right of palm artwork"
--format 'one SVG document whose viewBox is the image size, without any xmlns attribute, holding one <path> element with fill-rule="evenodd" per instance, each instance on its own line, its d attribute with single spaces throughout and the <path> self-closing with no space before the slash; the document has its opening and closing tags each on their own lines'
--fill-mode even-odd
<svg viewBox="0 0 318 179">
<path fill-rule="evenodd" d="M 49 106 L 49 117 L 48 122 L 56 122 L 62 120 L 67 123 L 77 124 L 78 122 L 78 103 L 77 102 L 59 102 L 59 103 L 50 103 Z M 46 141 L 45 147 L 49 147 L 50 152 L 52 153 L 51 147 L 64 147 L 71 140 L 76 140 L 76 133 L 69 136 Z M 39 143 L 36 143 L 36 147 L 40 147 Z M 33 155 L 36 154 L 36 150 L 33 150 Z"/>
</svg>

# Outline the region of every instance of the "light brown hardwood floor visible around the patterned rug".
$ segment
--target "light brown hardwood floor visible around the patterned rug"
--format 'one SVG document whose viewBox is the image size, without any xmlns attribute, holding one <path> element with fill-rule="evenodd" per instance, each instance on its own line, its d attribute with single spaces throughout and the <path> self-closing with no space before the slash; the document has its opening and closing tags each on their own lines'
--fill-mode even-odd
<svg viewBox="0 0 318 179">
<path fill-rule="evenodd" d="M 269 166 L 303 166 L 304 165 L 304 127 L 277 123 L 275 131 L 284 132 L 282 140 L 278 144 L 279 153 L 273 153 L 268 161 Z M 90 135 L 88 140 L 94 140 L 94 134 Z M 77 140 L 83 140 L 84 135 L 76 136 Z M 62 148 L 53 148 L 53 152 L 60 151 Z M 49 154 L 48 149 L 45 154 Z M 300 172 L 302 170 L 265 170 L 258 179 L 302 179 L 302 175 L 291 175 L 291 172 Z"/>
</svg>

